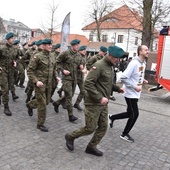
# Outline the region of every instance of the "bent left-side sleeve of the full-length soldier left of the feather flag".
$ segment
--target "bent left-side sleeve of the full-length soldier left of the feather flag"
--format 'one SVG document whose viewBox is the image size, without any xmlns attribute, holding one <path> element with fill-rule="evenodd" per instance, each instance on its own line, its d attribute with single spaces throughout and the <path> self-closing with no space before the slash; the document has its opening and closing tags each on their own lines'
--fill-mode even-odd
<svg viewBox="0 0 170 170">
<path fill-rule="evenodd" d="M 37 68 L 38 61 L 39 61 L 38 56 L 36 56 L 36 55 L 33 56 L 30 60 L 30 63 L 28 65 L 28 70 L 27 70 L 29 80 L 35 84 L 38 82 L 38 79 L 34 73 Z"/>
</svg>

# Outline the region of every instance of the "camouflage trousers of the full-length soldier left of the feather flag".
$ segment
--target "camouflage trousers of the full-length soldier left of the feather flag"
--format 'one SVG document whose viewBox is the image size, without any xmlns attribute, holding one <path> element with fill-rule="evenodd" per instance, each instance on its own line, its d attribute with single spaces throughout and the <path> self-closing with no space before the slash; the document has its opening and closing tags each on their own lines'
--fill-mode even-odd
<svg viewBox="0 0 170 170">
<path fill-rule="evenodd" d="M 47 91 L 35 86 L 35 99 L 28 102 L 33 109 L 37 108 L 38 125 L 43 125 L 46 120 Z"/>
</svg>

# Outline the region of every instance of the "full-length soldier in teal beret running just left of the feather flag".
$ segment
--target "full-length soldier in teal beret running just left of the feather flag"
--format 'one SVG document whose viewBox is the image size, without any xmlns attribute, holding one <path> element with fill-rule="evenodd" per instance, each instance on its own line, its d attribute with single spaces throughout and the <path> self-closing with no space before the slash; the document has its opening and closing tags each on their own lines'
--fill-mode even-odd
<svg viewBox="0 0 170 170">
<path fill-rule="evenodd" d="M 37 128 L 43 132 L 48 132 L 48 128 L 44 126 L 46 120 L 46 105 L 51 98 L 52 77 L 56 74 L 53 69 L 51 60 L 52 40 L 42 40 L 44 45 L 43 51 L 31 57 L 28 65 L 29 80 L 35 84 L 35 99 L 29 101 L 26 106 L 28 114 L 33 115 L 33 109 L 37 108 L 38 121 Z M 56 81 L 58 77 L 56 75 Z"/>
</svg>

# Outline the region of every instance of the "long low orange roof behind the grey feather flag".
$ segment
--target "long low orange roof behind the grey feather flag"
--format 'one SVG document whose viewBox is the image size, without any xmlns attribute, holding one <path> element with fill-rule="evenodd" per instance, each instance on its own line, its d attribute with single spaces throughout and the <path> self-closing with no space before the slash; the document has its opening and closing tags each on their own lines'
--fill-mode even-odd
<svg viewBox="0 0 170 170">
<path fill-rule="evenodd" d="M 49 34 L 45 34 L 42 35 L 40 37 L 35 37 L 33 38 L 31 41 L 38 41 L 40 39 L 44 39 L 44 38 L 49 38 Z M 84 36 L 84 35 L 79 35 L 79 34 L 70 34 L 69 36 L 69 41 L 68 41 L 68 46 L 70 45 L 70 42 L 74 39 L 79 39 L 80 45 L 87 45 L 89 43 L 89 40 Z M 52 40 L 53 40 L 53 44 L 57 44 L 60 43 L 61 40 L 61 32 L 58 32 L 56 34 L 52 35 Z"/>
</svg>

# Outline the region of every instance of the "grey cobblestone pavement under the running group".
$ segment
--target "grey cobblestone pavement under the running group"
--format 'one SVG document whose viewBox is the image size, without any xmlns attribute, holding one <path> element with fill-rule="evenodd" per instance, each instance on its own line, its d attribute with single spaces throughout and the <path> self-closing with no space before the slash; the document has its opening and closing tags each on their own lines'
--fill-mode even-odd
<svg viewBox="0 0 170 170">
<path fill-rule="evenodd" d="M 28 116 L 24 90 L 16 89 L 20 97 L 16 102 L 10 95 L 13 116 L 4 115 L 0 106 L 0 170 L 170 170 L 170 98 L 163 97 L 165 90 L 148 94 L 145 87 L 140 116 L 130 133 L 134 143 L 119 138 L 126 120 L 115 121 L 98 146 L 103 157 L 96 157 L 84 152 L 91 135 L 75 140 L 73 152 L 65 146 L 65 133 L 84 125 L 83 112 L 74 109 L 79 120 L 70 123 L 66 111 L 60 107 L 57 114 L 50 103 L 49 132 L 41 132 L 36 129 L 36 110 Z M 122 95 L 115 93 L 115 97 L 109 103 L 110 114 L 126 109 Z"/>
</svg>

